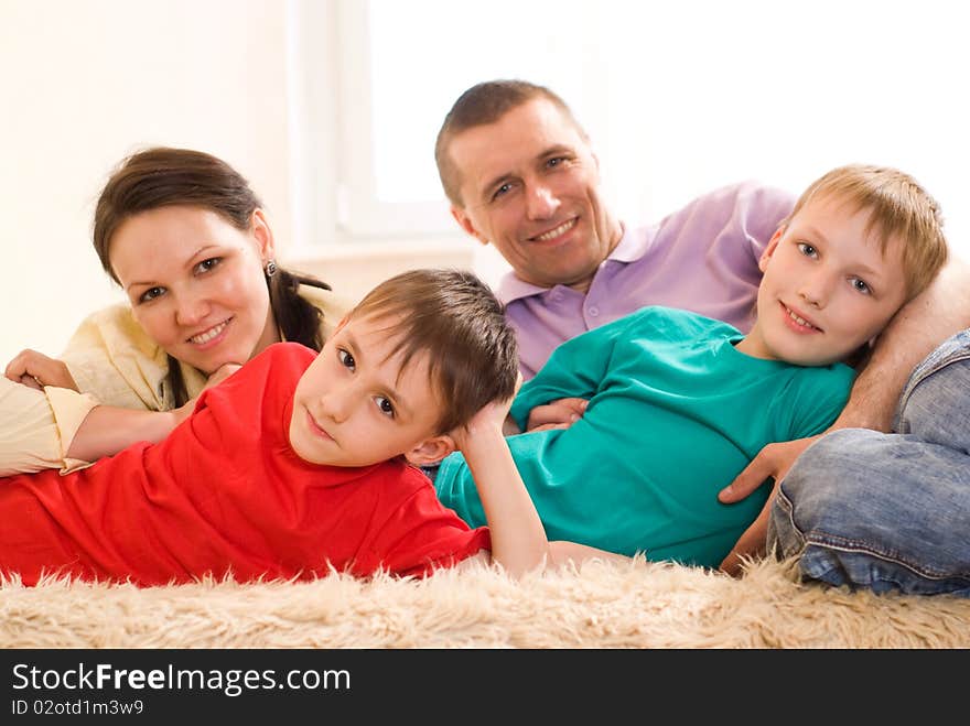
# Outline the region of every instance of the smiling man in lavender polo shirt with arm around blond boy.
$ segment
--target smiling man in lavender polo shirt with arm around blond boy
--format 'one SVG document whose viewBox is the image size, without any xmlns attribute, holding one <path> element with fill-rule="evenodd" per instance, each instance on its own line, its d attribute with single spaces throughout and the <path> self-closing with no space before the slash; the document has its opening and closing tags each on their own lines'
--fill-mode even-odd
<svg viewBox="0 0 970 726">
<path fill-rule="evenodd" d="M 444 119 L 435 160 L 461 227 L 511 266 L 498 295 L 530 378 L 552 349 L 644 305 L 670 305 L 747 333 L 761 279 L 757 260 L 794 198 L 741 184 L 700 197 L 659 224 L 627 229 L 600 194 L 599 161 L 565 102 L 519 80 L 486 82 L 462 94 Z M 957 262 L 907 304 L 880 336 L 833 429 L 886 431 L 913 367 L 964 327 L 952 305 L 970 274 Z M 529 427 L 568 425 L 582 402 L 540 407 Z M 766 478 L 780 481 L 815 440 L 769 444 L 720 495 L 737 501 Z M 763 551 L 769 498 L 721 564 Z"/>
</svg>

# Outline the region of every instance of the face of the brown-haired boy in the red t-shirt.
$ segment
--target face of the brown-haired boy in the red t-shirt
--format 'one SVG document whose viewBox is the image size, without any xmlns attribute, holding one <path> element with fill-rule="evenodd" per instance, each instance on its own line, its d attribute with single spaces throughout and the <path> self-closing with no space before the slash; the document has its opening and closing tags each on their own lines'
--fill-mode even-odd
<svg viewBox="0 0 970 726">
<path fill-rule="evenodd" d="M 435 435 L 442 403 L 429 377 L 429 356 L 416 356 L 402 368 L 401 355 L 391 355 L 394 322 L 342 324 L 300 378 L 290 419 L 290 445 L 300 458 L 351 467 L 401 454 L 424 464 L 450 453 L 435 448 L 451 440 Z"/>
</svg>

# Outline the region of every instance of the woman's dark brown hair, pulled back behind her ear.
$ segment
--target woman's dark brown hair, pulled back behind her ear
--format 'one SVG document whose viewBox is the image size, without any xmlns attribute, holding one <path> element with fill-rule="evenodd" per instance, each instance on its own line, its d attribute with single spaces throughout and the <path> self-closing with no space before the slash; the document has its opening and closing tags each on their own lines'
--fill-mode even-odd
<svg viewBox="0 0 970 726">
<path fill-rule="evenodd" d="M 108 178 L 95 208 L 94 246 L 101 267 L 119 282 L 108 251 L 118 227 L 129 217 L 150 209 L 169 206 L 193 206 L 211 209 L 240 230 L 248 230 L 252 213 L 262 202 L 249 182 L 226 162 L 212 154 L 191 149 L 157 147 L 125 159 Z M 323 313 L 301 297 L 301 284 L 331 290 L 316 278 L 277 268 L 267 275 L 269 301 L 277 326 L 287 340 L 302 343 L 320 350 Z M 179 361 L 169 356 L 168 381 L 175 405 L 188 400 Z"/>
</svg>

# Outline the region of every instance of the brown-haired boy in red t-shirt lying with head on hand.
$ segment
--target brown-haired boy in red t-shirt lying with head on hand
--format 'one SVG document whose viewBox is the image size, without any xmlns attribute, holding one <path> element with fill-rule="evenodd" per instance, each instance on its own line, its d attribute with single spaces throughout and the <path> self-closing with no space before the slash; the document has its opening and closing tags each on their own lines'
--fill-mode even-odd
<svg viewBox="0 0 970 726">
<path fill-rule="evenodd" d="M 515 335 L 477 278 L 397 275 L 320 355 L 271 345 L 204 391 L 181 425 L 184 412 L 95 408 L 72 456 L 107 456 L 126 435 L 131 445 L 68 475 L 0 480 L 0 574 L 164 585 L 424 575 L 491 556 L 518 575 L 546 559 L 600 555 L 546 539 L 502 434 L 517 376 Z M 134 443 L 144 429 L 132 415 L 174 429 Z M 416 468 L 455 448 L 488 528 L 445 509 Z"/>
</svg>

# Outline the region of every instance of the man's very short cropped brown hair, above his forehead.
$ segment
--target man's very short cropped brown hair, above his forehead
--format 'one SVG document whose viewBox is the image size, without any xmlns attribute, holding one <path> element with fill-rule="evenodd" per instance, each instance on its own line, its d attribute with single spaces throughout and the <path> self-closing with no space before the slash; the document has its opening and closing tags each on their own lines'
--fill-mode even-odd
<svg viewBox="0 0 970 726">
<path fill-rule="evenodd" d="M 441 186 L 449 201 L 462 206 L 461 172 L 455 167 L 448 152 L 451 140 L 462 131 L 476 126 L 495 123 L 510 110 L 528 104 L 536 98 L 545 98 L 552 102 L 562 115 L 576 128 L 580 136 L 586 139 L 586 132 L 576 122 L 572 110 L 553 91 L 545 86 L 527 80 L 486 80 L 465 90 L 444 117 L 438 139 L 434 143 L 434 162 Z"/>
</svg>

